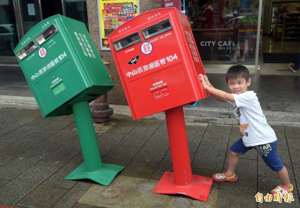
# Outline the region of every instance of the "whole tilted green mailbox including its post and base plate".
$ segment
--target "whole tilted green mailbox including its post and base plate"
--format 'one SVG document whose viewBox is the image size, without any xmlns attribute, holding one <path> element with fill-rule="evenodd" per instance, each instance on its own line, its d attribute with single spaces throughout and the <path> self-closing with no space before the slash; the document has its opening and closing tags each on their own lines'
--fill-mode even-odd
<svg viewBox="0 0 300 208">
<path fill-rule="evenodd" d="M 114 85 L 84 24 L 48 17 L 24 35 L 14 53 L 43 117 L 74 114 L 84 162 L 65 179 L 108 186 L 124 167 L 101 163 L 88 103 Z"/>
</svg>

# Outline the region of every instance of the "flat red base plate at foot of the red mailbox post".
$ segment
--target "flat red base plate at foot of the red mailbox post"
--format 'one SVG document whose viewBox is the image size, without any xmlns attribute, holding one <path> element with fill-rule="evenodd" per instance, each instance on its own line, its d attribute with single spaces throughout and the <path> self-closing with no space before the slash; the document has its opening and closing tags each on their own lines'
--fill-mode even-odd
<svg viewBox="0 0 300 208">
<path fill-rule="evenodd" d="M 181 194 L 195 200 L 207 201 L 212 185 L 212 178 L 192 175 L 192 183 L 186 186 L 178 186 L 174 182 L 174 173 L 164 172 L 158 184 L 154 188 L 155 194 Z"/>
</svg>

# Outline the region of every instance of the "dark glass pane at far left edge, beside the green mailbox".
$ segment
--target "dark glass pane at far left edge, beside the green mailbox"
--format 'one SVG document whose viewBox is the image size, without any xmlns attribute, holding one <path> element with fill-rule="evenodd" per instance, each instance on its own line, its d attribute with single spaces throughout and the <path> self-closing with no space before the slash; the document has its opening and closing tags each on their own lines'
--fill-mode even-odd
<svg viewBox="0 0 300 208">
<path fill-rule="evenodd" d="M 11 56 L 17 44 L 12 0 L 0 1 L 0 56 Z"/>
</svg>

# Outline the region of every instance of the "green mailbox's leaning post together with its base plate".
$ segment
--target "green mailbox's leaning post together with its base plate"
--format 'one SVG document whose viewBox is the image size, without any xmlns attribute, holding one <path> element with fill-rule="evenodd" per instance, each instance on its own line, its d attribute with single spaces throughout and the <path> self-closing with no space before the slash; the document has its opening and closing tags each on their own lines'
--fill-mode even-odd
<svg viewBox="0 0 300 208">
<path fill-rule="evenodd" d="M 72 104 L 72 110 L 84 162 L 65 177 L 65 179 L 90 179 L 98 184 L 108 186 L 116 174 L 125 167 L 102 164 L 88 102 L 76 102 Z"/>
</svg>

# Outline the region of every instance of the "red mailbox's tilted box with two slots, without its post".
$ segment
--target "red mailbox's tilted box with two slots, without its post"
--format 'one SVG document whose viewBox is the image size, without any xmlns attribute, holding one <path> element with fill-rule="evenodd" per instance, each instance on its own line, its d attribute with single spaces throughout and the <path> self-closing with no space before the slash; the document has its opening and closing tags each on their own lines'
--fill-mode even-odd
<svg viewBox="0 0 300 208">
<path fill-rule="evenodd" d="M 210 96 L 197 78 L 205 71 L 189 22 L 175 7 L 139 14 L 107 39 L 134 120 Z"/>
</svg>

